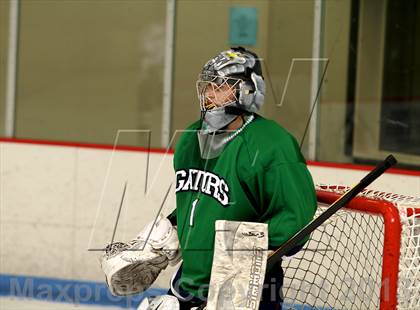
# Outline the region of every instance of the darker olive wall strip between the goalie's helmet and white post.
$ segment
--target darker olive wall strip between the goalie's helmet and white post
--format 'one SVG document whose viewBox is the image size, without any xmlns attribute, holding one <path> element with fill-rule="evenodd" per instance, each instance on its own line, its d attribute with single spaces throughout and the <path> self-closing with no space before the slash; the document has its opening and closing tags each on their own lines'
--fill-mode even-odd
<svg viewBox="0 0 420 310">
<path fill-rule="evenodd" d="M 268 100 L 264 112 L 300 141 L 309 114 L 312 62 L 313 1 L 272 1 L 266 71 Z M 290 72 L 288 87 L 286 80 Z M 271 85 L 269 84 L 271 82 Z M 281 101 L 283 92 L 284 100 Z"/>
</svg>

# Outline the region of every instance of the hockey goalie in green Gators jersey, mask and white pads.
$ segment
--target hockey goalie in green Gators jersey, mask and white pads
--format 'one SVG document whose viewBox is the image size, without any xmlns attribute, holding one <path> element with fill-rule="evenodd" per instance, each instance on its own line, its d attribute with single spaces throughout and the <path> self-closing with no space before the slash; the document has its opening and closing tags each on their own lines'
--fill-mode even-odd
<svg viewBox="0 0 420 310">
<path fill-rule="evenodd" d="M 196 88 L 201 117 L 175 147 L 176 209 L 107 247 L 107 283 L 117 295 L 139 293 L 182 259 L 168 294 L 139 309 L 281 309 L 283 271 L 266 270 L 267 250 L 314 216 L 305 159 L 290 133 L 257 114 L 265 83 L 255 53 L 221 52 Z"/>
</svg>

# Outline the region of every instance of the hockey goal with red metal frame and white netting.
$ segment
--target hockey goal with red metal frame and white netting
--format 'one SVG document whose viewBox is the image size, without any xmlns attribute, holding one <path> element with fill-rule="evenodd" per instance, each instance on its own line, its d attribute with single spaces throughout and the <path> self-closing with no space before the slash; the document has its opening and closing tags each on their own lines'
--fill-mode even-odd
<svg viewBox="0 0 420 310">
<path fill-rule="evenodd" d="M 348 187 L 317 186 L 318 213 Z M 283 263 L 283 309 L 420 309 L 420 198 L 364 190 Z"/>
</svg>

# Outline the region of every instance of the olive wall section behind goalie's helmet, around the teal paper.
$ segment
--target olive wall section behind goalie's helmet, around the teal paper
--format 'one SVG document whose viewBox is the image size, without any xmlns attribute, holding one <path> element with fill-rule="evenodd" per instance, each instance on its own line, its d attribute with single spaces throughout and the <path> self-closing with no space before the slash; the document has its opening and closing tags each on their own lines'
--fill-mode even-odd
<svg viewBox="0 0 420 310">
<path fill-rule="evenodd" d="M 256 7 L 259 16 L 259 55 L 266 44 L 269 1 L 178 1 L 174 72 L 173 131 L 185 128 L 200 116 L 195 83 L 203 65 L 229 45 L 231 6 Z"/>
</svg>

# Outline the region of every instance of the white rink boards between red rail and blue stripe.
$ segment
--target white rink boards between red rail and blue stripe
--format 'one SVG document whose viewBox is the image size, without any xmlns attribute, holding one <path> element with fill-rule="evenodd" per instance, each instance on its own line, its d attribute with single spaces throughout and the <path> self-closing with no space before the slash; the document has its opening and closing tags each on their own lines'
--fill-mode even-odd
<svg viewBox="0 0 420 310">
<path fill-rule="evenodd" d="M 351 185 L 367 172 L 310 166 L 315 183 Z M 0 143 L 0 273 L 103 281 L 98 249 L 129 240 L 157 214 L 174 181 L 172 154 Z M 371 188 L 420 196 L 420 177 L 387 173 Z M 174 186 L 164 213 L 175 208 Z M 172 270 L 157 287 L 167 287 Z"/>
</svg>

